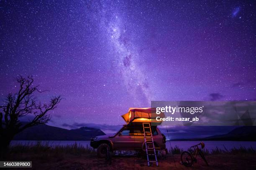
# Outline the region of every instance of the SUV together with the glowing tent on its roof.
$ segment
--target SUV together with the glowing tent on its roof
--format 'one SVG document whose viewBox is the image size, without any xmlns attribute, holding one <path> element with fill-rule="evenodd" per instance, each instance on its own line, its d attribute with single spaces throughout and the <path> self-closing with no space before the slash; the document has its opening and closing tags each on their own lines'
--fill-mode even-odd
<svg viewBox="0 0 256 170">
<path fill-rule="evenodd" d="M 106 150 L 136 150 L 145 151 L 145 137 L 143 122 L 151 125 L 151 134 L 156 150 L 166 150 L 166 137 L 157 128 L 152 117 L 152 108 L 130 108 L 128 113 L 123 115 L 127 123 L 115 133 L 115 135 L 102 135 L 91 139 L 92 148 L 97 148 L 97 156 L 104 158 Z M 147 134 L 150 135 L 151 134 Z M 151 139 L 150 139 L 151 140 Z M 152 144 L 147 144 L 152 148 Z"/>
</svg>

